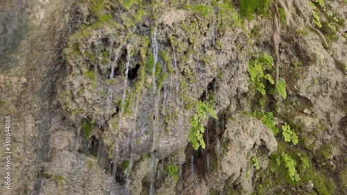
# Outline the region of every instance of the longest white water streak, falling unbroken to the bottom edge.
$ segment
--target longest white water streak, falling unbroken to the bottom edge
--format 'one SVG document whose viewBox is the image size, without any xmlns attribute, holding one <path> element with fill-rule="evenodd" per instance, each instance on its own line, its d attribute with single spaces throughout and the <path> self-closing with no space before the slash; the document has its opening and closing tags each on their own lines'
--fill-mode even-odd
<svg viewBox="0 0 347 195">
<path fill-rule="evenodd" d="M 153 58 L 154 58 L 154 65 L 152 69 L 152 82 L 153 82 L 153 94 L 155 96 L 155 118 L 153 121 L 153 151 L 151 152 L 151 185 L 149 188 L 149 194 L 153 195 L 155 192 L 154 189 L 154 179 L 155 179 L 155 133 L 157 128 L 157 121 L 158 121 L 158 115 L 159 115 L 159 108 L 158 108 L 158 94 L 157 94 L 157 83 L 155 82 L 155 66 L 158 62 L 158 41 L 157 41 L 157 28 L 154 28 L 153 31 L 153 37 L 152 37 L 152 48 L 153 48 Z"/>
</svg>

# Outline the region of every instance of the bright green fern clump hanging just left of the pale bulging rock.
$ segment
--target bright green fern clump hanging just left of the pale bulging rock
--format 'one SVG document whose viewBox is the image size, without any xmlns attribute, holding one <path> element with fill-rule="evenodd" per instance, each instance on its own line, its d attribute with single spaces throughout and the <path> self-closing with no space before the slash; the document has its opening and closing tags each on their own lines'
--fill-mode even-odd
<svg viewBox="0 0 347 195">
<path fill-rule="evenodd" d="M 205 149 L 205 142 L 203 141 L 205 128 L 203 127 L 202 122 L 205 121 L 209 114 L 214 119 L 217 119 L 216 113 L 212 108 L 212 101 L 209 101 L 208 103 L 198 101 L 196 103 L 196 114 L 189 121 L 192 126 L 189 132 L 189 140 L 192 142 L 195 150 L 200 146 Z"/>
</svg>

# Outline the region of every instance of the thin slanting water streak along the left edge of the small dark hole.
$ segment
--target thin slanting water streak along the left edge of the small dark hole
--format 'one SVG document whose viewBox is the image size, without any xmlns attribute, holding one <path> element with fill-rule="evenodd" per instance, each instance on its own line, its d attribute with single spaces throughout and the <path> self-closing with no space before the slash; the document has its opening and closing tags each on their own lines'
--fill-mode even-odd
<svg viewBox="0 0 347 195">
<path fill-rule="evenodd" d="M 130 65 L 130 56 L 126 56 L 126 72 L 125 72 L 126 78 L 124 79 L 124 90 L 123 90 L 123 95 L 121 96 L 121 112 L 119 113 L 119 123 L 118 123 L 119 130 L 121 130 L 121 128 L 123 126 L 124 102 L 126 99 L 126 86 L 128 85 L 129 65 Z M 118 152 L 118 145 L 116 146 L 115 158 L 113 159 L 113 164 L 114 164 L 113 165 L 113 172 L 112 172 L 113 183 L 116 183 L 117 152 Z"/>
</svg>

